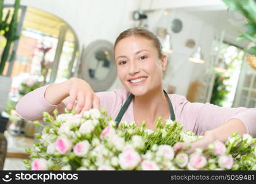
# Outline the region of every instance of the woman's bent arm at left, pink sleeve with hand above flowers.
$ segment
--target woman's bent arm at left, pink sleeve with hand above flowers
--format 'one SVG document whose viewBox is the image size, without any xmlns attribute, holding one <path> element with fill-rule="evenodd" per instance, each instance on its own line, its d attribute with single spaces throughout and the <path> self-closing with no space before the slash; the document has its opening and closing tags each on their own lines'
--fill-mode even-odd
<svg viewBox="0 0 256 184">
<path fill-rule="evenodd" d="M 68 102 L 63 103 L 67 96 Z M 76 102 L 76 105 L 75 105 Z M 51 113 L 54 109 L 63 113 L 65 107 L 82 113 L 91 108 L 99 109 L 100 101 L 90 85 L 81 79 L 71 78 L 62 83 L 42 86 L 23 96 L 16 105 L 20 117 L 26 120 L 42 120 L 42 112 Z"/>
</svg>

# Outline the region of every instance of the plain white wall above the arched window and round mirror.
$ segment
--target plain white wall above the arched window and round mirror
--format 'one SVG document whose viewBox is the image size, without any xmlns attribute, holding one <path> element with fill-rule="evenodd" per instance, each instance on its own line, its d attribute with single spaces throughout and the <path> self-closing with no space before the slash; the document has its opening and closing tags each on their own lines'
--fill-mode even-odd
<svg viewBox="0 0 256 184">
<path fill-rule="evenodd" d="M 66 21 L 78 36 L 79 48 L 97 39 L 112 43 L 119 33 L 133 26 L 131 12 L 138 7 L 137 0 L 21 0 L 20 4 L 52 13 Z M 5 0 L 14 4 L 14 0 Z M 113 88 L 121 84 L 116 79 Z"/>
</svg>

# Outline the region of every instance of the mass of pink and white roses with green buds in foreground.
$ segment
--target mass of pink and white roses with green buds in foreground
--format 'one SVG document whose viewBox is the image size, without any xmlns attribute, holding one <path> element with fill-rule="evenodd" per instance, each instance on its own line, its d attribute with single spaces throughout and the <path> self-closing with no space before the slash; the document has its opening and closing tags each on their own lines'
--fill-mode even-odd
<svg viewBox="0 0 256 184">
<path fill-rule="evenodd" d="M 42 134 L 38 142 L 26 148 L 30 158 L 24 163 L 29 170 L 255 170 L 256 139 L 248 134 L 233 133 L 226 144 L 214 142 L 193 153 L 179 151 L 177 142 L 194 142 L 202 136 L 183 131 L 177 121 L 162 122 L 159 117 L 153 130 L 134 121 L 116 122 L 104 109 L 91 109 L 83 115 L 44 112 Z"/>
</svg>

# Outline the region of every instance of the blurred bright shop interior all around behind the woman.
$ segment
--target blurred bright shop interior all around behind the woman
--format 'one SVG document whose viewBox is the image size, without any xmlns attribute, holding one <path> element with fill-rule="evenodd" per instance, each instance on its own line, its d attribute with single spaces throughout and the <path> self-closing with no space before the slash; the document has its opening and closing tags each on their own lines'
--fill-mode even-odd
<svg viewBox="0 0 256 184">
<path fill-rule="evenodd" d="M 113 44 L 140 26 L 163 46 L 164 88 L 191 102 L 256 107 L 254 0 L 0 1 L 0 169 L 25 169 L 36 128 L 15 105 L 26 93 L 79 77 L 122 88 Z M 8 143 L 8 144 L 7 144 Z"/>
</svg>

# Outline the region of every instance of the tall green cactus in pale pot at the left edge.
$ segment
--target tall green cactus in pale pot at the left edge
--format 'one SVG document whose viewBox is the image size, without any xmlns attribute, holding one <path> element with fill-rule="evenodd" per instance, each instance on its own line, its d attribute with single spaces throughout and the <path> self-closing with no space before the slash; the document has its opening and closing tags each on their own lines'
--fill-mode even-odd
<svg viewBox="0 0 256 184">
<path fill-rule="evenodd" d="M 12 61 L 15 56 L 15 52 L 12 51 L 10 55 L 10 47 L 14 40 L 18 39 L 17 36 L 17 27 L 18 27 L 18 9 L 20 8 L 20 0 L 15 0 L 14 4 L 14 13 L 12 15 L 12 19 L 10 23 L 8 23 L 10 17 L 10 10 L 7 15 L 3 17 L 3 8 L 4 8 L 4 0 L 0 0 L 0 33 L 2 36 L 6 38 L 6 45 L 1 55 L 0 60 L 0 112 L 5 109 L 6 102 L 8 98 L 8 94 L 10 91 L 10 85 L 12 83 L 12 79 L 10 77 L 4 76 L 4 66 L 6 65 L 6 61 Z"/>
</svg>

